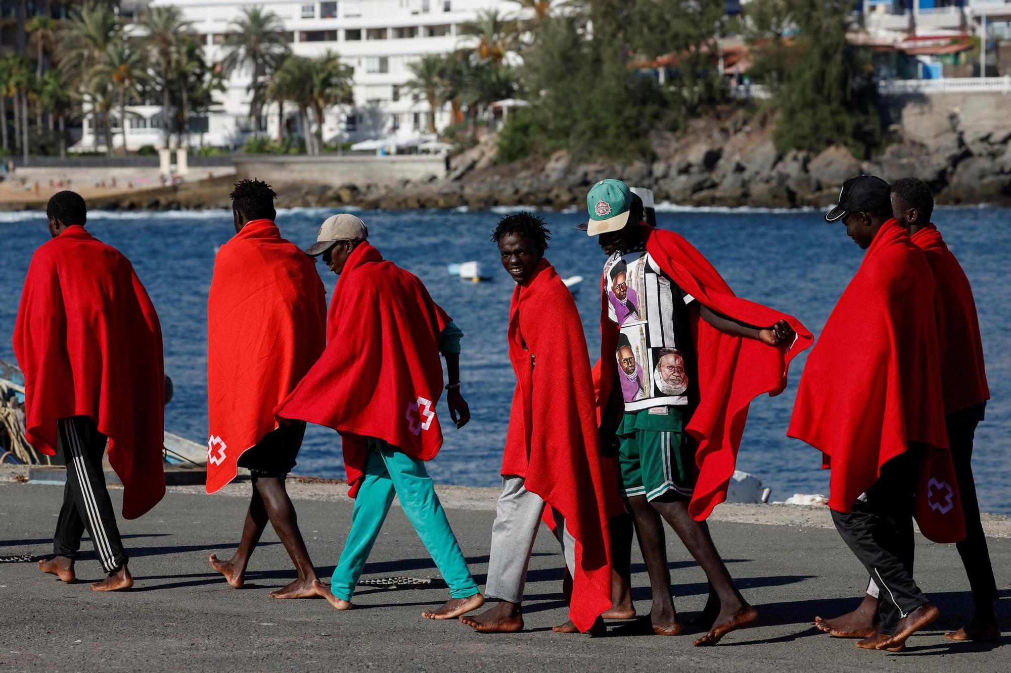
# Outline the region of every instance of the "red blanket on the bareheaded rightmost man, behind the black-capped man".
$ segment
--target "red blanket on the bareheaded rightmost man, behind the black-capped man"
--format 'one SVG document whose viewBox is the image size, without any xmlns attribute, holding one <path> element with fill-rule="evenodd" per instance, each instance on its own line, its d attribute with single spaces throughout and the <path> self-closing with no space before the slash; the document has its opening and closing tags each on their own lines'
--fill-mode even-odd
<svg viewBox="0 0 1011 673">
<path fill-rule="evenodd" d="M 990 399 L 976 300 L 966 272 L 936 226 L 923 227 L 912 239 L 934 275 L 944 413 L 951 413 Z"/>
</svg>

